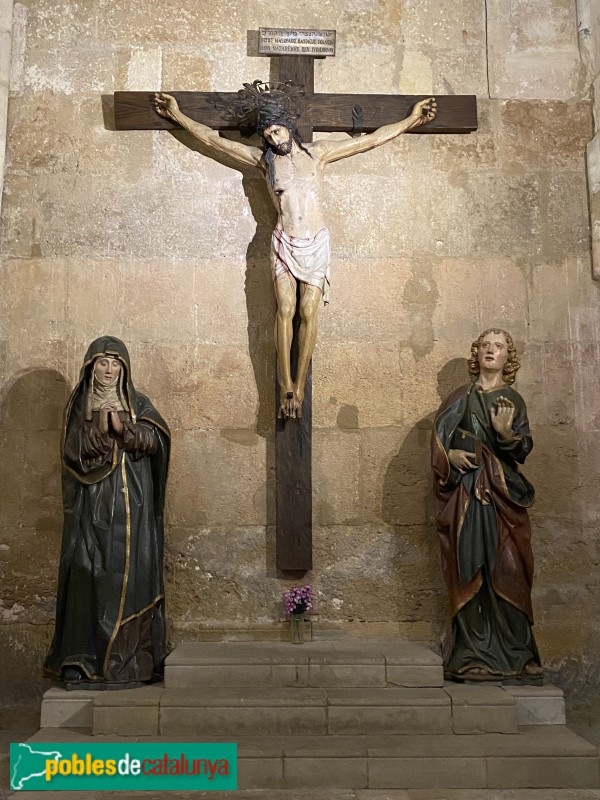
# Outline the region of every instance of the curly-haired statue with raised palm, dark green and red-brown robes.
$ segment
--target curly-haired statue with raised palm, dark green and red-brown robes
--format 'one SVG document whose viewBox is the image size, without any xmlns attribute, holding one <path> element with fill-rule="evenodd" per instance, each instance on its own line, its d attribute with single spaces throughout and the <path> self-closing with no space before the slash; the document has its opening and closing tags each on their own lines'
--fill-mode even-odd
<svg viewBox="0 0 600 800">
<path fill-rule="evenodd" d="M 520 472 L 531 452 L 527 408 L 512 387 L 519 361 L 509 333 L 471 345 L 471 382 L 440 406 L 432 439 L 435 510 L 452 612 L 446 677 L 540 684 L 533 636 L 533 553 Z"/>
</svg>

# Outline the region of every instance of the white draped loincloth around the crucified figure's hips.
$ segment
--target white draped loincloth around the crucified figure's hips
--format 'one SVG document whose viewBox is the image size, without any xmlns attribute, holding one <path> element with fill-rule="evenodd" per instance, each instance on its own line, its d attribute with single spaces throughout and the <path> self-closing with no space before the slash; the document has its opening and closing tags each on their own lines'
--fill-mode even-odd
<svg viewBox="0 0 600 800">
<path fill-rule="evenodd" d="M 288 236 L 275 228 L 271 236 L 271 269 L 273 280 L 281 275 L 294 278 L 310 286 L 318 286 L 323 293 L 323 303 L 329 303 L 329 231 L 322 228 L 312 239 Z"/>
</svg>

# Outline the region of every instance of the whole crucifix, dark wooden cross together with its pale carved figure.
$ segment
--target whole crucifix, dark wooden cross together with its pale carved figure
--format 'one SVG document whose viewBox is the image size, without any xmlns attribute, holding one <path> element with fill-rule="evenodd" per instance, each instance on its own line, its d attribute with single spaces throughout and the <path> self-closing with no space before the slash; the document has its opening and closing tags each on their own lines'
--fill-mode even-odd
<svg viewBox="0 0 600 800">
<path fill-rule="evenodd" d="M 312 569 L 310 358 L 317 308 L 327 301 L 329 285 L 329 233 L 320 208 L 323 170 L 405 132 L 470 133 L 477 129 L 477 108 L 473 95 L 318 94 L 315 55 L 274 57 L 279 88 L 256 81 L 245 84 L 245 93 L 115 92 L 115 123 L 117 130 L 183 127 L 209 150 L 257 167 L 265 176 L 278 211 L 271 247 L 279 368 L 276 566 L 305 572 Z M 286 105 L 292 95 L 293 113 Z M 234 108 L 237 115 L 230 113 Z M 248 127 L 249 119 L 262 135 L 263 149 L 219 136 L 218 131 Z M 313 142 L 314 131 L 346 132 L 352 138 Z"/>
</svg>

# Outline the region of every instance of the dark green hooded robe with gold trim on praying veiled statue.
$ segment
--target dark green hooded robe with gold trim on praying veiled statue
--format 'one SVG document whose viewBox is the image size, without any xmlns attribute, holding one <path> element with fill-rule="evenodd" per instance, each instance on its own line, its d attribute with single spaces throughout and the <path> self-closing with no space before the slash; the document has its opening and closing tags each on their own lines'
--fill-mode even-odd
<svg viewBox="0 0 600 800">
<path fill-rule="evenodd" d="M 118 358 L 123 431 L 86 420 L 94 362 Z M 89 412 L 88 412 L 89 416 Z M 65 412 L 64 526 L 56 627 L 44 663 L 61 678 L 78 667 L 89 681 L 128 683 L 159 675 L 165 657 L 163 507 L 169 429 L 135 391 L 123 342 L 90 345 Z"/>
</svg>

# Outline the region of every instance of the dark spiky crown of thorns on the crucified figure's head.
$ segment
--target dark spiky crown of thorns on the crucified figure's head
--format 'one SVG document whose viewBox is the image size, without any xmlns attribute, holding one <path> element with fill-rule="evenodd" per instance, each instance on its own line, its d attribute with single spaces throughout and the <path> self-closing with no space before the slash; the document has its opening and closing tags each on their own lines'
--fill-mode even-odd
<svg viewBox="0 0 600 800">
<path fill-rule="evenodd" d="M 271 125 L 296 129 L 300 117 L 298 100 L 304 96 L 304 87 L 291 81 L 286 83 L 245 83 L 235 99 L 223 99 L 218 105 L 228 120 L 234 121 L 242 131 L 262 133 Z"/>
</svg>

